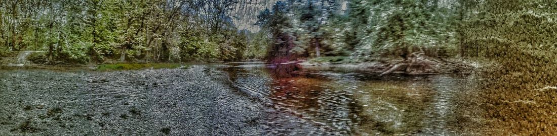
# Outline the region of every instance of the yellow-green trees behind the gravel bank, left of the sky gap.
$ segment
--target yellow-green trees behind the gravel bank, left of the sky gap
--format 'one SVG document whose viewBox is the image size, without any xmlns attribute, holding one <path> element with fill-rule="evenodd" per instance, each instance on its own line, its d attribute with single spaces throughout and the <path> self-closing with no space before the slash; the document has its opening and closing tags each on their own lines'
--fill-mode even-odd
<svg viewBox="0 0 557 136">
<path fill-rule="evenodd" d="M 1 2 L 0 47 L 46 51 L 48 64 L 243 59 L 246 34 L 229 15 L 236 2 Z"/>
</svg>

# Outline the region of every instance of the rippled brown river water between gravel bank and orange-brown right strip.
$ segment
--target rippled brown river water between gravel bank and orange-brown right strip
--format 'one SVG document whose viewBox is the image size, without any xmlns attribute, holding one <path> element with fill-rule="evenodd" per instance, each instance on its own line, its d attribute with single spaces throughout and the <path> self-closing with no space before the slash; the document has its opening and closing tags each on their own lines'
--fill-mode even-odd
<svg viewBox="0 0 557 136">
<path fill-rule="evenodd" d="M 474 123 L 462 121 L 476 117 L 463 117 L 458 111 L 477 110 L 465 107 L 469 98 L 460 98 L 475 94 L 471 75 L 378 77 L 353 69 L 303 69 L 294 64 L 240 64 L 227 72 L 235 84 L 267 82 L 269 90 L 253 85 L 240 90 L 271 103 L 265 113 L 271 135 L 476 135 L 465 132 L 476 127 L 465 124 Z"/>
</svg>

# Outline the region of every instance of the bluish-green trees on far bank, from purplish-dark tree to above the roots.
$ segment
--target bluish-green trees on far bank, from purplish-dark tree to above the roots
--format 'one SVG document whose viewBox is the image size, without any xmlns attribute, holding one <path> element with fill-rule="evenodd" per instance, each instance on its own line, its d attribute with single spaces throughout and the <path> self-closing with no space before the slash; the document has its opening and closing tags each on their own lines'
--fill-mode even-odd
<svg viewBox="0 0 557 136">
<path fill-rule="evenodd" d="M 295 44 L 289 52 L 301 57 L 367 59 L 405 57 L 412 52 L 451 57 L 458 53 L 458 23 L 452 21 L 458 8 L 440 6 L 438 1 L 346 2 L 343 12 L 341 1 L 279 1 L 260 13 L 257 24 L 273 34 L 274 45 L 283 45 L 284 37 L 289 37 Z"/>
</svg>

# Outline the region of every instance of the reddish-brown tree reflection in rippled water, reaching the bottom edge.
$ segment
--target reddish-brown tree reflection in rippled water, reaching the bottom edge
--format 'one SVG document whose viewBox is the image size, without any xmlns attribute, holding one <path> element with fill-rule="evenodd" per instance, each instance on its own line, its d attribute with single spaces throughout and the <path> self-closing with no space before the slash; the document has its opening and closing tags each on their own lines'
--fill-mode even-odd
<svg viewBox="0 0 557 136">
<path fill-rule="evenodd" d="M 307 78 L 301 74 L 296 64 L 277 64 L 267 67 L 273 81 L 271 93 L 273 112 L 270 125 L 276 134 L 317 133 L 331 128 L 315 120 L 316 109 L 320 106 L 317 99 L 323 91 L 322 84 L 326 80 Z M 321 130 L 320 130 L 321 129 Z"/>
</svg>

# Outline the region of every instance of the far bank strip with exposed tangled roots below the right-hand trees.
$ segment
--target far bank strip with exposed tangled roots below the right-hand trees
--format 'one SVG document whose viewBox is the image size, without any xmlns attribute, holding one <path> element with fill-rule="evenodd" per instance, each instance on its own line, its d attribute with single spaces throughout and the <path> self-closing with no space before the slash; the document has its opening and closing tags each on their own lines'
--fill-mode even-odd
<svg viewBox="0 0 557 136">
<path fill-rule="evenodd" d="M 372 61 L 358 61 L 355 58 L 349 57 L 320 57 L 302 60 L 299 61 L 299 64 L 306 68 L 344 68 L 380 74 L 402 73 L 409 75 L 470 74 L 481 69 L 483 66 L 490 65 L 487 61 L 461 58 L 418 58 L 419 61 L 427 62 L 428 64 L 422 64 L 414 60 L 412 60 L 414 64 L 401 64 L 409 62 L 409 60 L 401 58 L 373 58 L 369 60 Z"/>
</svg>

